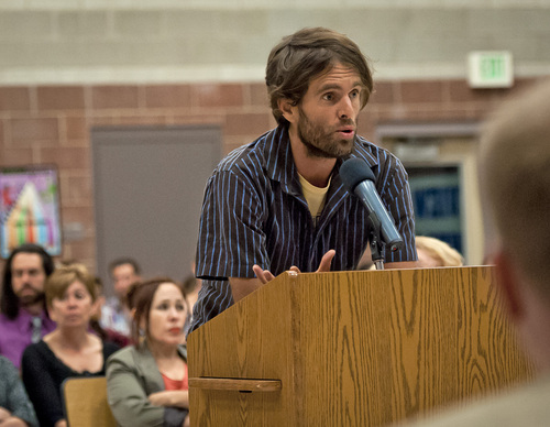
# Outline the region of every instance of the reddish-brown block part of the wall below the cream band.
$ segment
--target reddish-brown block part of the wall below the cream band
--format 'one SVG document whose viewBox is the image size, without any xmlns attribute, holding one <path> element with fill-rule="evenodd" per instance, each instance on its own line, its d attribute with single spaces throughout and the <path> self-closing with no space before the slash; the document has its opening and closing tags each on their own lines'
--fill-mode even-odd
<svg viewBox="0 0 550 427">
<path fill-rule="evenodd" d="M 360 133 L 378 123 L 482 120 L 513 89 L 472 90 L 462 80 L 380 81 L 361 113 Z M 95 125 L 216 123 L 224 152 L 273 128 L 263 84 L 0 87 L 0 164 L 56 163 L 62 221 L 84 226 L 65 241 L 66 259 L 95 269 L 90 128 Z"/>
</svg>

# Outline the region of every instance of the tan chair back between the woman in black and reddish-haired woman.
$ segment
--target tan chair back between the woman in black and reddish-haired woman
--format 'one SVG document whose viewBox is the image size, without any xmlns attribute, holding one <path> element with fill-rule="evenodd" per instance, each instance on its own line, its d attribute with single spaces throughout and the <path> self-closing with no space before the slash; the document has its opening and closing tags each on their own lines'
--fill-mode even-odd
<svg viewBox="0 0 550 427">
<path fill-rule="evenodd" d="M 69 427 L 117 427 L 117 421 L 107 403 L 105 376 L 65 380 L 63 398 Z"/>
</svg>

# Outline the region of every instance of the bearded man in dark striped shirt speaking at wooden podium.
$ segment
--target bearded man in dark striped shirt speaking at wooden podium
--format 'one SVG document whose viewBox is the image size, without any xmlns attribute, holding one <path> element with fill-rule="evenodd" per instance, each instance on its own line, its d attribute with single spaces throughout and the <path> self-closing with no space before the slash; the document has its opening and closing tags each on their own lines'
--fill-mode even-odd
<svg viewBox="0 0 550 427">
<path fill-rule="evenodd" d="M 367 211 L 339 175 L 366 162 L 404 245 L 387 267 L 416 260 L 407 174 L 389 152 L 356 134 L 373 91 L 366 58 L 345 35 L 316 28 L 286 36 L 268 57 L 277 128 L 230 153 L 207 183 L 197 247 L 202 288 L 190 330 L 286 270 L 354 270 L 369 244 Z"/>
</svg>

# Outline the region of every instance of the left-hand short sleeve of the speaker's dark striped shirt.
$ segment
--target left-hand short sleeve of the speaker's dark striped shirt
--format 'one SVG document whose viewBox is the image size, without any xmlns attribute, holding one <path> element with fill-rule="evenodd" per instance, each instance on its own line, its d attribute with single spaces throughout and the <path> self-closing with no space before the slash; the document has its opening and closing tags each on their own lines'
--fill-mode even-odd
<svg viewBox="0 0 550 427">
<path fill-rule="evenodd" d="M 257 183 L 232 171 L 215 173 L 207 184 L 199 226 L 197 276 L 254 277 L 254 264 L 268 265 L 263 231 L 268 211 Z"/>
</svg>

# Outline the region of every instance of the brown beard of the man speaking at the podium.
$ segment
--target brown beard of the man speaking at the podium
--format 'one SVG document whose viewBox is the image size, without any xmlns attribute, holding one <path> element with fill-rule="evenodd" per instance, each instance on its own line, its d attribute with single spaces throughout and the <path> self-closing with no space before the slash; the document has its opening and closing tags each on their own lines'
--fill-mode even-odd
<svg viewBox="0 0 550 427">
<path fill-rule="evenodd" d="M 336 130 L 326 132 L 322 124 L 312 123 L 299 109 L 298 138 L 306 146 L 309 157 L 340 158 L 350 154 L 353 150 L 354 139 L 337 140 Z M 352 119 L 341 120 L 340 124 L 355 125 Z"/>
</svg>

